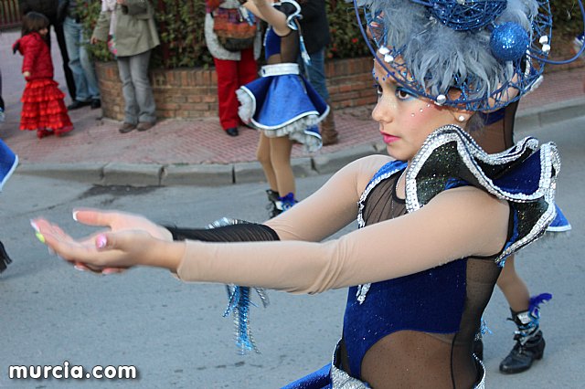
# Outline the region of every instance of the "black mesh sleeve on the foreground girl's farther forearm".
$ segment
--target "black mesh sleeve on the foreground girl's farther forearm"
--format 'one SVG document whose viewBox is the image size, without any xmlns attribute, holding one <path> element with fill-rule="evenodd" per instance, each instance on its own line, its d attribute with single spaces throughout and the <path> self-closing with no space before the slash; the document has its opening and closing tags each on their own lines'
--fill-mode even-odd
<svg viewBox="0 0 585 389">
<path fill-rule="evenodd" d="M 173 235 L 173 240 L 201 240 L 204 242 L 257 242 L 280 240 L 276 231 L 269 226 L 255 223 L 242 223 L 216 228 L 180 228 L 165 226 Z"/>
</svg>

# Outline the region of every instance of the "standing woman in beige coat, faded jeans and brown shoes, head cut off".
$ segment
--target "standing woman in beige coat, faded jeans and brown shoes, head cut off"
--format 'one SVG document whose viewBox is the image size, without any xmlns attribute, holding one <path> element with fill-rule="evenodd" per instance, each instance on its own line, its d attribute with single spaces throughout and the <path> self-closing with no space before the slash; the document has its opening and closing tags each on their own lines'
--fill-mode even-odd
<svg viewBox="0 0 585 389">
<path fill-rule="evenodd" d="M 156 123 L 156 105 L 148 64 L 160 44 L 149 0 L 101 0 L 101 13 L 90 43 L 108 42 L 118 61 L 124 97 L 122 133 L 146 131 Z"/>
</svg>

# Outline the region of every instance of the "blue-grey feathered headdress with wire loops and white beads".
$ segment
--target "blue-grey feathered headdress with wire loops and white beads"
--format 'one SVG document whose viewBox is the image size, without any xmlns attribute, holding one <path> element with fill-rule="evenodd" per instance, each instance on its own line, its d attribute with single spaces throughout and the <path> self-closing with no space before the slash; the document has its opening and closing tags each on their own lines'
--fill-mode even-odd
<svg viewBox="0 0 585 389">
<path fill-rule="evenodd" d="M 499 109 L 535 89 L 545 63 L 566 63 L 580 54 L 548 60 L 548 0 L 354 0 L 354 5 L 367 45 L 388 76 L 439 105 Z M 584 14 L 580 0 L 579 5 Z M 449 93 L 452 89 L 459 93 Z"/>
</svg>

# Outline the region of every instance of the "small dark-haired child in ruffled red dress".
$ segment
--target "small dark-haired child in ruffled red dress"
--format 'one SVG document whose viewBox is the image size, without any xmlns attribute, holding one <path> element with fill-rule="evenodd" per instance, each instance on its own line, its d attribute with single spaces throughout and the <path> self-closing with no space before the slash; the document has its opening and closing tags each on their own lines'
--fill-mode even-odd
<svg viewBox="0 0 585 389">
<path fill-rule="evenodd" d="M 29 12 L 22 20 L 22 37 L 12 47 L 24 57 L 22 75 L 27 79 L 21 99 L 20 130 L 37 131 L 38 139 L 73 130 L 63 102 L 65 95 L 53 79 L 47 34 L 47 16 Z"/>
</svg>

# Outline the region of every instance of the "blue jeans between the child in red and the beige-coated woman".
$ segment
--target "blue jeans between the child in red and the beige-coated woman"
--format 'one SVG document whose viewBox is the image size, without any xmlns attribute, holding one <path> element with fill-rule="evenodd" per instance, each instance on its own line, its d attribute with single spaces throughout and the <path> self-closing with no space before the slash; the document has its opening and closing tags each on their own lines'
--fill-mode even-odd
<svg viewBox="0 0 585 389">
<path fill-rule="evenodd" d="M 67 16 L 63 22 L 63 32 L 69 55 L 69 68 L 75 80 L 75 100 L 99 100 L 98 79 L 95 77 L 90 53 L 85 47 L 88 39 L 83 36 L 83 26 Z"/>
</svg>

